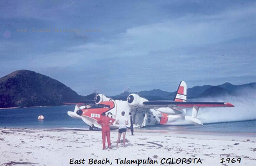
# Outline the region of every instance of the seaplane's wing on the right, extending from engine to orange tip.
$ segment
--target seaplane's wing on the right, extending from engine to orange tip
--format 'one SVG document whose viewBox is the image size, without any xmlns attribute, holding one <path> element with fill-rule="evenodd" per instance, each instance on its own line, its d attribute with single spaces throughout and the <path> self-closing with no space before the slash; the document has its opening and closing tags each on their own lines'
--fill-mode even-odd
<svg viewBox="0 0 256 166">
<path fill-rule="evenodd" d="M 234 107 L 228 102 L 179 102 L 179 101 L 144 101 L 143 105 L 148 108 L 161 107 L 178 107 L 178 108 L 193 108 L 197 107 Z"/>
</svg>

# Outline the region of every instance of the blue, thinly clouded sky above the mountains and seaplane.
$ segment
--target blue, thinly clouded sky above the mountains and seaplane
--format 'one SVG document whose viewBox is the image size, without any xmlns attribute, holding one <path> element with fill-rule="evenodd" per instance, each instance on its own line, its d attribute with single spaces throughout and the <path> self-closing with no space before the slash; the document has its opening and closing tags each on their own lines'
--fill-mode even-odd
<svg viewBox="0 0 256 166">
<path fill-rule="evenodd" d="M 127 86 L 173 92 L 182 80 L 256 82 L 255 8 L 254 1 L 0 1 L 0 77 L 33 70 L 79 95 L 95 87 L 106 95 Z"/>
</svg>

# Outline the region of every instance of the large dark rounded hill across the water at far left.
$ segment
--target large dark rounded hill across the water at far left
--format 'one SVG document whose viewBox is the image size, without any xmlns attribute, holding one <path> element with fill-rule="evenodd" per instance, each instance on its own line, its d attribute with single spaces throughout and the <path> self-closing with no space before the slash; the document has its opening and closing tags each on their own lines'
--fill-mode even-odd
<svg viewBox="0 0 256 166">
<path fill-rule="evenodd" d="M 0 79 L 0 107 L 60 105 L 61 101 L 83 100 L 70 87 L 46 75 L 18 70 Z"/>
</svg>

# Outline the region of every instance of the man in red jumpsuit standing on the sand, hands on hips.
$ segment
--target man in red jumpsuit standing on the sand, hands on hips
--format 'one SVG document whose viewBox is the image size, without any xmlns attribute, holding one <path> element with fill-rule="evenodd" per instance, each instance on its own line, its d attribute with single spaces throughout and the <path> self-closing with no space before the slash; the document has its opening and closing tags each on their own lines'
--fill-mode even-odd
<svg viewBox="0 0 256 166">
<path fill-rule="evenodd" d="M 111 122 L 110 122 L 111 121 Z M 97 121 L 99 125 L 102 126 L 102 143 L 103 143 L 103 149 L 106 148 L 106 136 L 108 141 L 108 148 L 111 148 L 111 141 L 110 141 L 110 128 L 109 125 L 113 125 L 115 119 L 111 117 L 106 117 L 106 113 L 102 113 L 102 117 Z"/>
</svg>

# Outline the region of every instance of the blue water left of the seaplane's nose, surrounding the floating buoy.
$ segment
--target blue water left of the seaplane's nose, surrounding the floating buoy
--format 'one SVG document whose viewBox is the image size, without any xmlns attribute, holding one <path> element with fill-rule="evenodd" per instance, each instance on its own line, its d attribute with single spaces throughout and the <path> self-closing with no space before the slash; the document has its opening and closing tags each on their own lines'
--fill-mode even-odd
<svg viewBox="0 0 256 166">
<path fill-rule="evenodd" d="M 82 120 L 69 117 L 67 111 L 74 111 L 74 106 L 68 105 L 0 110 L 0 128 L 89 128 Z M 43 121 L 37 120 L 39 115 L 44 116 Z"/>
</svg>

